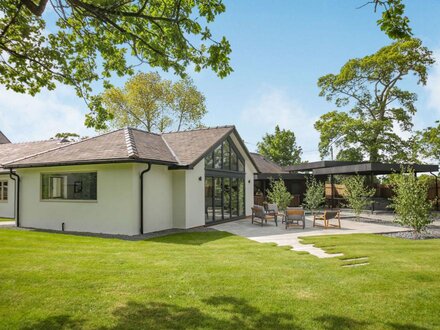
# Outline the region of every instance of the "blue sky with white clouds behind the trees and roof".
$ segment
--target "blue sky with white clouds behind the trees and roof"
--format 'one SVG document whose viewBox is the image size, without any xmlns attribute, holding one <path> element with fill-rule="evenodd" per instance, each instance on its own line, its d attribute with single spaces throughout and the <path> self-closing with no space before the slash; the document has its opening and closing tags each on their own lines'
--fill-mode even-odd
<svg viewBox="0 0 440 330">
<path fill-rule="evenodd" d="M 226 12 L 210 26 L 231 43 L 234 72 L 224 78 L 190 72 L 205 95 L 206 126 L 235 125 L 250 151 L 275 125 L 293 130 L 304 160 L 318 160 L 314 122 L 335 106 L 319 97 L 317 80 L 347 60 L 376 52 L 391 41 L 376 25 L 379 13 L 366 0 L 226 0 Z M 418 96 L 416 129 L 440 119 L 440 1 L 404 1 L 414 35 L 434 51 L 438 64 L 426 86 L 409 79 Z M 143 67 L 142 71 L 158 71 Z M 165 78 L 176 80 L 171 73 Z M 115 78 L 123 85 L 126 78 Z M 0 131 L 13 142 L 47 139 L 57 132 L 93 136 L 84 102 L 70 87 L 32 97 L 0 86 Z"/>
</svg>

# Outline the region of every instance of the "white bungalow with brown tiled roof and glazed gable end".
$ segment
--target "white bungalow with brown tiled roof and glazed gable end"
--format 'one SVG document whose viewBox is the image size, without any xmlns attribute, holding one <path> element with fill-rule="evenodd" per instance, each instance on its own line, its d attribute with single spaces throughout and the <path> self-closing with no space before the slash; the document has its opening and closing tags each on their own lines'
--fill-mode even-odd
<svg viewBox="0 0 440 330">
<path fill-rule="evenodd" d="M 0 141 L 0 217 L 20 227 L 136 235 L 251 213 L 258 170 L 234 126 Z"/>
</svg>

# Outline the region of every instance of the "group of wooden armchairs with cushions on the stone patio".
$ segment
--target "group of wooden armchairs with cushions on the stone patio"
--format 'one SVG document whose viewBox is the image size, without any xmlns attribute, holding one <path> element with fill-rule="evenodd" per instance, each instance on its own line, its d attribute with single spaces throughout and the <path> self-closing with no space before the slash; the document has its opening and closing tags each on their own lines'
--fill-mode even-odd
<svg viewBox="0 0 440 330">
<path fill-rule="evenodd" d="M 252 207 L 252 223 L 263 226 L 267 221 L 274 221 L 278 226 L 278 219 L 285 224 L 285 228 L 289 227 L 306 227 L 305 210 L 298 207 L 288 207 L 284 212 L 278 210 L 276 204 L 254 205 Z M 336 223 L 332 223 L 334 220 Z M 317 223 L 322 222 L 324 228 L 341 228 L 341 218 L 339 211 L 324 211 L 321 214 L 313 215 L 313 227 L 319 226 Z"/>
</svg>

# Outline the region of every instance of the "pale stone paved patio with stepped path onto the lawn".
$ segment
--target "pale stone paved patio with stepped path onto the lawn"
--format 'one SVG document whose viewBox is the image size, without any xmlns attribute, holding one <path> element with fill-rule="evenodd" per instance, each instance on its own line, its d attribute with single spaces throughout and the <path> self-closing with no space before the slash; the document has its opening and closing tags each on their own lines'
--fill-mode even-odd
<svg viewBox="0 0 440 330">
<path fill-rule="evenodd" d="M 378 234 L 408 230 L 407 228 L 385 223 L 377 224 L 351 221 L 344 219 L 344 217 L 341 218 L 341 229 L 324 229 L 322 227 L 313 227 L 312 224 L 313 218 L 308 215 L 306 216 L 305 229 L 292 227 L 286 230 L 284 224 L 281 224 L 281 221 L 279 221 L 278 227 L 275 226 L 275 223 L 272 221 L 261 226 L 255 223 L 252 224 L 251 219 L 222 223 L 213 226 L 212 228 L 246 237 L 260 243 L 276 243 L 279 246 L 291 246 L 292 250 L 306 251 L 318 258 L 339 257 L 342 256 L 342 254 L 329 254 L 311 244 L 301 244 L 300 237 L 343 234 Z"/>
</svg>

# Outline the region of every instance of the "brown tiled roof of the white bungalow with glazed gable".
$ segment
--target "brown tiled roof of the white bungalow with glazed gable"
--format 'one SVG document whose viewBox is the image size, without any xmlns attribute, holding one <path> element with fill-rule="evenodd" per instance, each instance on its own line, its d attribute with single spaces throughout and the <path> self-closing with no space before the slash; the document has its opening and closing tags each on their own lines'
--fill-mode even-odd
<svg viewBox="0 0 440 330">
<path fill-rule="evenodd" d="M 2 161 L 5 168 L 116 162 L 152 162 L 172 167 L 192 167 L 221 143 L 234 126 L 204 128 L 166 134 L 125 128 L 41 152 L 28 152 Z M 238 133 L 237 133 L 238 135 Z M 241 140 L 240 140 L 241 141 Z M 13 147 L 16 144 L 12 144 Z M 244 145 L 243 145 L 244 146 Z M 244 147 L 248 153 L 246 147 Z M 251 161 L 253 162 L 252 158 Z M 255 165 L 255 164 L 254 164 Z"/>
</svg>

